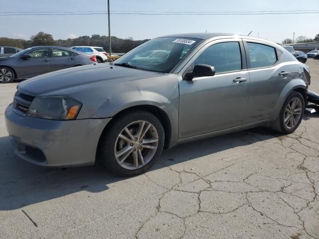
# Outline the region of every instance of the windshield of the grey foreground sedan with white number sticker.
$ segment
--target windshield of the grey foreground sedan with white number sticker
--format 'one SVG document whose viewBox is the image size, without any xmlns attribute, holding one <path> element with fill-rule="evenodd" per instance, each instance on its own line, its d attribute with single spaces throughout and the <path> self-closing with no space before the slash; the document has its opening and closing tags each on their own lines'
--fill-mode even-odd
<svg viewBox="0 0 319 239">
<path fill-rule="evenodd" d="M 201 39 L 161 37 L 143 43 L 114 64 L 129 64 L 141 70 L 168 73 Z"/>
</svg>

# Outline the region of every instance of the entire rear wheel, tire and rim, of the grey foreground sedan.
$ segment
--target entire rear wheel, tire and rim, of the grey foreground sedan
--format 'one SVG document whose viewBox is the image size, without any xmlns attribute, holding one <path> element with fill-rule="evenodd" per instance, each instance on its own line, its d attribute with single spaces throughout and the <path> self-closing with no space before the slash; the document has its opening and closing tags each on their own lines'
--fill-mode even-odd
<svg viewBox="0 0 319 239">
<path fill-rule="evenodd" d="M 294 106 L 294 102 L 296 100 L 296 105 Z M 289 113 L 290 109 L 294 110 L 294 113 Z M 292 112 L 292 111 L 290 111 Z M 283 104 L 279 116 L 273 122 L 270 123 L 270 126 L 278 132 L 289 134 L 294 132 L 301 120 L 303 119 L 305 112 L 305 100 L 302 94 L 299 92 L 293 91 L 288 98 L 286 99 L 285 103 Z M 293 114 L 293 117 L 292 117 Z M 285 120 L 286 119 L 286 120 Z M 287 121 L 288 119 L 288 121 Z M 292 120 L 292 121 L 291 121 Z"/>
</svg>

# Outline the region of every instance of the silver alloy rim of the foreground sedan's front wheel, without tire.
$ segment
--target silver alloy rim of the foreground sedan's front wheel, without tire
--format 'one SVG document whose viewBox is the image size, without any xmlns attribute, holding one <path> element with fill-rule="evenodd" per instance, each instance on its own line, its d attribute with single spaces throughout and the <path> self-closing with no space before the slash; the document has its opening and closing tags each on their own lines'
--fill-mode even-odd
<svg viewBox="0 0 319 239">
<path fill-rule="evenodd" d="M 159 144 L 155 126 L 145 120 L 130 123 L 118 135 L 114 154 L 119 165 L 135 170 L 148 164 L 154 157 Z"/>
</svg>

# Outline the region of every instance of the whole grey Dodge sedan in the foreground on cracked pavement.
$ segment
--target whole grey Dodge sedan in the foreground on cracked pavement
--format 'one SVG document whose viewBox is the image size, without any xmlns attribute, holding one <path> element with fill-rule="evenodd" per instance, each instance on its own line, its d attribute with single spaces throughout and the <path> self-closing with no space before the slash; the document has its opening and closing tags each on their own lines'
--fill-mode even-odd
<svg viewBox="0 0 319 239">
<path fill-rule="evenodd" d="M 160 63 L 136 61 L 151 50 L 169 55 Z M 169 35 L 113 65 L 21 82 L 5 121 L 15 154 L 29 162 L 66 167 L 101 160 L 112 172 L 136 175 L 163 147 L 265 123 L 293 132 L 303 118 L 308 82 L 308 67 L 270 41 Z"/>
</svg>

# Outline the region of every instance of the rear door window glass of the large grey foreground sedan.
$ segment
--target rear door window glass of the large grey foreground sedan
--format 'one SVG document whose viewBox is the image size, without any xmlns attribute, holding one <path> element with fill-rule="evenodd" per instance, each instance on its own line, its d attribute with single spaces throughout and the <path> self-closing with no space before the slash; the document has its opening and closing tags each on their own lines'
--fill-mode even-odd
<svg viewBox="0 0 319 239">
<path fill-rule="evenodd" d="M 269 67 L 277 61 L 276 49 L 272 46 L 247 42 L 250 68 Z"/>
</svg>

